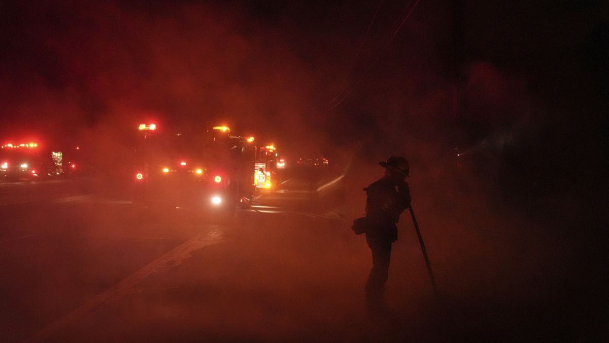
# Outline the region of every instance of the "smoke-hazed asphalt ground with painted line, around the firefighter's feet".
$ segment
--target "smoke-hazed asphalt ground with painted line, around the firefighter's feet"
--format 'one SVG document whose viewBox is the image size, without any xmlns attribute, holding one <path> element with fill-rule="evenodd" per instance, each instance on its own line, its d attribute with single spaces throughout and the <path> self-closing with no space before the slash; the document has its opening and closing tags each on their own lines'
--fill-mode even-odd
<svg viewBox="0 0 609 343">
<path fill-rule="evenodd" d="M 416 182 L 415 211 L 440 296 L 403 215 L 385 294 L 392 312 L 371 321 L 364 313 L 370 250 L 350 229 L 363 212 L 366 181 L 297 172 L 282 182 L 226 220 L 183 208 L 149 211 L 130 201 L 128 187 L 97 179 L 0 183 L 0 341 L 598 336 L 589 317 L 600 303 L 579 292 L 580 303 L 563 301 L 581 280 L 563 281 L 572 255 L 553 238 L 556 226 L 473 196 L 417 197 L 425 185 Z"/>
</svg>

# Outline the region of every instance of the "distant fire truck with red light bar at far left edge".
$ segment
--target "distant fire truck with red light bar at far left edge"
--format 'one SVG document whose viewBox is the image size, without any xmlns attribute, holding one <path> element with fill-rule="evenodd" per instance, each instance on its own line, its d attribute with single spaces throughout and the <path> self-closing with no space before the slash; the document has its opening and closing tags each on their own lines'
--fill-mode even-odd
<svg viewBox="0 0 609 343">
<path fill-rule="evenodd" d="M 49 151 L 37 142 L 0 145 L 0 177 L 27 181 L 63 175 L 62 152 Z"/>
</svg>

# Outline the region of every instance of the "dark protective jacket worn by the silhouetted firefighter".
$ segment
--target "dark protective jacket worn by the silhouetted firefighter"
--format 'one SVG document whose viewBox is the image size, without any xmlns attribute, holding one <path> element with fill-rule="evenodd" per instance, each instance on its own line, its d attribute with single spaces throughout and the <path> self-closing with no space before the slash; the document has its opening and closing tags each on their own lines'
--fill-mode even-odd
<svg viewBox="0 0 609 343">
<path fill-rule="evenodd" d="M 370 227 L 368 239 L 394 242 L 398 239 L 400 214 L 410 207 L 410 190 L 406 181 L 395 183 L 390 178 L 382 178 L 364 189 L 367 193 L 366 218 Z"/>
</svg>

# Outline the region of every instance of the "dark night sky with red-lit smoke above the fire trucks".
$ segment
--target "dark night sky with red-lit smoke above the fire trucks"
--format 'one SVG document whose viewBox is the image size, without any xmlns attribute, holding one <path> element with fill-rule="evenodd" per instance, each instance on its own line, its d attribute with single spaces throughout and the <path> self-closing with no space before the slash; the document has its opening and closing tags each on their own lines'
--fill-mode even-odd
<svg viewBox="0 0 609 343">
<path fill-rule="evenodd" d="M 607 2 L 420 1 L 398 31 L 415 2 L 4 1 L 0 133 L 223 121 L 284 151 L 602 168 Z"/>
</svg>

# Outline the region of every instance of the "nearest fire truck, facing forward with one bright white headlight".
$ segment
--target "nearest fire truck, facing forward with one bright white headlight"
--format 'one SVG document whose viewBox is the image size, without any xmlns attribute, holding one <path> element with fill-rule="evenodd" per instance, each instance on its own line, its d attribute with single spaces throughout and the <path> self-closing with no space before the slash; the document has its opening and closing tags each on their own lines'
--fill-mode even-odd
<svg viewBox="0 0 609 343">
<path fill-rule="evenodd" d="M 139 126 L 133 173 L 135 201 L 234 214 L 254 191 L 254 148 L 227 126 L 171 132 Z"/>
</svg>

